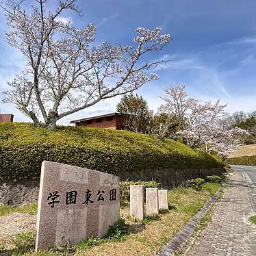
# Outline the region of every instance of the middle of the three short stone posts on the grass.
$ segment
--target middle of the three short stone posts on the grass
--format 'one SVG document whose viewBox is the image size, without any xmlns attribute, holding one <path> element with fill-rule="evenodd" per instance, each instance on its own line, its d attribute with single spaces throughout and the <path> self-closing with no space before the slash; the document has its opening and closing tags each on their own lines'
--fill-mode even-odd
<svg viewBox="0 0 256 256">
<path fill-rule="evenodd" d="M 146 188 L 146 215 L 159 214 L 158 188 Z"/>
</svg>

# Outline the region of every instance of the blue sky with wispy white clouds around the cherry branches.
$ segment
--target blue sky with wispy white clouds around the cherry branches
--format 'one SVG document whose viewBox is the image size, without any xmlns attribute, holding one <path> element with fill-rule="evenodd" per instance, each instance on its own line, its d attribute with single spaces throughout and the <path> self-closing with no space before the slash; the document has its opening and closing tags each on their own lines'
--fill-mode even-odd
<svg viewBox="0 0 256 256">
<path fill-rule="evenodd" d="M 79 0 L 84 16 L 66 13 L 81 27 L 97 25 L 97 42 L 132 43 L 133 29 L 162 27 L 173 39 L 164 51 L 149 56 L 170 60 L 158 81 L 138 90 L 155 112 L 162 103 L 162 88 L 185 84 L 190 97 L 201 101 L 220 99 L 227 111 L 256 110 L 256 1 L 238 0 Z M 0 14 L 0 92 L 6 81 L 25 66 L 23 56 L 5 42 L 3 12 Z M 0 96 L 1 98 L 2 96 Z M 112 112 L 120 98 L 103 101 L 67 116 L 59 123 Z M 13 105 L 0 104 L 1 113 L 14 113 L 14 120 L 29 120 Z"/>
</svg>

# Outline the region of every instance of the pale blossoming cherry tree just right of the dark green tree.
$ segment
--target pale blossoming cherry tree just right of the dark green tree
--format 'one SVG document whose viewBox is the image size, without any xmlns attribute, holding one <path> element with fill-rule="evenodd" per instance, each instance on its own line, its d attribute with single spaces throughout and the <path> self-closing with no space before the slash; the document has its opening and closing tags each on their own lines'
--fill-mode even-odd
<svg viewBox="0 0 256 256">
<path fill-rule="evenodd" d="M 199 103 L 198 100 L 188 98 L 184 85 L 171 86 L 164 89 L 165 101 L 159 110 L 175 116 L 179 122 L 178 134 L 183 137 L 186 144 L 195 148 L 207 140 L 207 136 L 214 127 L 218 127 L 226 105 L 220 105 L 220 101 L 211 103 Z"/>
</svg>

